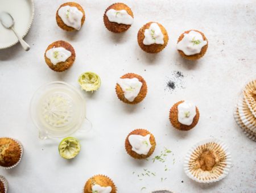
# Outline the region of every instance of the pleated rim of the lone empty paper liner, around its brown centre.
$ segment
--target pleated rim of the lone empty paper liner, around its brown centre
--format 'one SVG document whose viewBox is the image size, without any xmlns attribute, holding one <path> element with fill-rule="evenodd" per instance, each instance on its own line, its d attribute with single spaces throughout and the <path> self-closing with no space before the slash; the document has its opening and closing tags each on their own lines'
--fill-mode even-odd
<svg viewBox="0 0 256 193">
<path fill-rule="evenodd" d="M 197 157 L 203 149 L 217 150 L 218 155 L 223 158 L 211 171 L 204 171 L 196 167 Z M 228 147 L 220 140 L 208 139 L 200 141 L 189 149 L 184 161 L 184 171 L 187 176 L 196 182 L 210 183 L 225 178 L 231 166 L 231 156 Z"/>
</svg>

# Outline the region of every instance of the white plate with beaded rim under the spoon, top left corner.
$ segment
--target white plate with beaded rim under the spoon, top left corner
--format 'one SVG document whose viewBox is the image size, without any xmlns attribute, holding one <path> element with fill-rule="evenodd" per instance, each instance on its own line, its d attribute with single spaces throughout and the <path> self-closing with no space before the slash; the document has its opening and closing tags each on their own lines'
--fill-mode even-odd
<svg viewBox="0 0 256 193">
<path fill-rule="evenodd" d="M 33 0 L 0 0 L 0 12 L 6 11 L 13 16 L 16 32 L 26 36 L 34 18 Z M 17 37 L 12 30 L 8 30 L 0 23 L 0 49 L 9 48 L 18 43 Z"/>
</svg>

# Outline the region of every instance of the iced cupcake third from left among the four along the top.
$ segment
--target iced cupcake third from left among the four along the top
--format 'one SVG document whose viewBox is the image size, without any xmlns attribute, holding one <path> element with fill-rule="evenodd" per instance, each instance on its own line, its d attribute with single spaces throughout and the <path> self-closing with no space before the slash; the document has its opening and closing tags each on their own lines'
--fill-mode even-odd
<svg viewBox="0 0 256 193">
<path fill-rule="evenodd" d="M 138 44 L 147 53 L 162 51 L 169 40 L 166 29 L 156 22 L 145 24 L 138 32 Z"/>
</svg>

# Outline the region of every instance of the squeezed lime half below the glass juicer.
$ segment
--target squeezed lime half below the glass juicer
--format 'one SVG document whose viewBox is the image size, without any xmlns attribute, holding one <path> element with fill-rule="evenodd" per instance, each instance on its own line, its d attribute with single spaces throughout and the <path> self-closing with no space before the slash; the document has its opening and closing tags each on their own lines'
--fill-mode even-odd
<svg viewBox="0 0 256 193">
<path fill-rule="evenodd" d="M 79 154 L 81 145 L 75 137 L 66 137 L 59 144 L 60 156 L 65 159 L 72 159 Z"/>
</svg>

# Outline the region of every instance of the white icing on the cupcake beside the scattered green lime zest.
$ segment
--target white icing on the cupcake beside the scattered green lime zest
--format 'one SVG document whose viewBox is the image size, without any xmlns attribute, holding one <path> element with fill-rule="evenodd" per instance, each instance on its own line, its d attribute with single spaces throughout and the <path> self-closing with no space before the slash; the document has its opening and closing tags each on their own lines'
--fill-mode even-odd
<svg viewBox="0 0 256 193">
<path fill-rule="evenodd" d="M 140 155 L 141 154 L 147 155 L 152 146 L 150 144 L 150 134 L 146 136 L 130 135 L 128 137 L 128 140 L 132 146 L 131 150 L 133 150 L 134 152 Z"/>
</svg>

